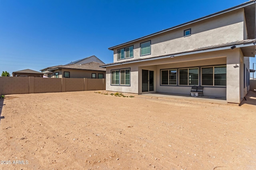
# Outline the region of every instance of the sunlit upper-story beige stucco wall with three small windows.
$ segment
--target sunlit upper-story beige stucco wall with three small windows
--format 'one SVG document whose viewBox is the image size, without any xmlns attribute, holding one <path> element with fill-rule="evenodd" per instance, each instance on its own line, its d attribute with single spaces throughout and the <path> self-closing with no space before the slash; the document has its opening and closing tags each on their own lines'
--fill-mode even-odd
<svg viewBox="0 0 256 170">
<path fill-rule="evenodd" d="M 131 43 L 130 45 L 134 45 L 134 58 L 119 61 L 180 53 L 200 47 L 243 40 L 247 34 L 244 31 L 246 27 L 244 20 L 244 10 L 239 9 L 161 33 L 148 39 Z M 189 28 L 191 28 L 192 35 L 183 37 L 183 31 Z M 140 57 L 140 43 L 149 40 L 151 40 L 151 55 Z M 130 45 L 114 49 L 114 62 L 119 62 L 117 61 L 117 50 Z"/>
</svg>

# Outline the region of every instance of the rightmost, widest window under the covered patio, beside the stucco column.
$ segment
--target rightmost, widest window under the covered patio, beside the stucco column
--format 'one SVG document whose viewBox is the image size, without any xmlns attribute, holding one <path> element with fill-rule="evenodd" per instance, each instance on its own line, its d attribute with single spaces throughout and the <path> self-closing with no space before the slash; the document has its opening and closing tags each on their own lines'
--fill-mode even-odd
<svg viewBox="0 0 256 170">
<path fill-rule="evenodd" d="M 202 68 L 202 86 L 226 86 L 226 66 Z"/>
</svg>

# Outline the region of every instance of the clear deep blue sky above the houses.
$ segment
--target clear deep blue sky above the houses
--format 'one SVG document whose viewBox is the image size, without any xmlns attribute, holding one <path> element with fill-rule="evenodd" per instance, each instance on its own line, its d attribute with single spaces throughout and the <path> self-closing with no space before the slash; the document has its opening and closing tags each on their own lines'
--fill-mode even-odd
<svg viewBox="0 0 256 170">
<path fill-rule="evenodd" d="M 70 63 L 246 0 L 0 0 L 0 72 Z M 251 59 L 252 63 L 256 60 Z M 254 64 L 256 67 L 256 64 Z"/>
</svg>

